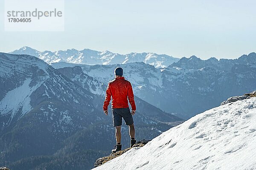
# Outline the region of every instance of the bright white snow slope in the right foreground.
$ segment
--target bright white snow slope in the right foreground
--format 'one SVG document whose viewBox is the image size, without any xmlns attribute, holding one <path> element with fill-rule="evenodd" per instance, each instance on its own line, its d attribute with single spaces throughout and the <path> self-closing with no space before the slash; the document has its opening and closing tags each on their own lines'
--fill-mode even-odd
<svg viewBox="0 0 256 170">
<path fill-rule="evenodd" d="M 256 170 L 256 97 L 212 108 L 95 170 Z"/>
</svg>

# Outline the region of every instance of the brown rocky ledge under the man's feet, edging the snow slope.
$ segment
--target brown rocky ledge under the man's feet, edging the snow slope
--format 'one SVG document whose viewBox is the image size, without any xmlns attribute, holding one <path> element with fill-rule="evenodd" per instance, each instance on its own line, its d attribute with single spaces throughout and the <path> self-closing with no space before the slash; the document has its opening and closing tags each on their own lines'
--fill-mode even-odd
<svg viewBox="0 0 256 170">
<path fill-rule="evenodd" d="M 133 147 L 143 147 L 145 144 L 147 144 L 150 140 L 146 140 L 146 139 L 143 139 L 143 140 L 140 140 L 138 142 L 136 142 L 136 144 L 134 144 Z M 102 164 L 105 164 L 107 161 L 110 161 L 111 159 L 114 159 L 116 158 L 117 156 L 120 156 L 122 155 L 123 153 L 127 152 L 128 150 L 130 150 L 131 147 L 125 149 L 125 150 L 120 150 L 119 152 L 116 152 L 116 153 L 111 153 L 109 156 L 104 156 L 102 158 L 99 158 L 95 161 L 94 163 L 94 167 L 98 167 Z"/>
</svg>

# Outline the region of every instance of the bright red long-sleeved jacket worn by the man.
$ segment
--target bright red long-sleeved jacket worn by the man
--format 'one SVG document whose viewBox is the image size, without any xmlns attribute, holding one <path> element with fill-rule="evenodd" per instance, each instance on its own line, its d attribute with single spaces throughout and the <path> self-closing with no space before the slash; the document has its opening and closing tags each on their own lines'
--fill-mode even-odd
<svg viewBox="0 0 256 170">
<path fill-rule="evenodd" d="M 134 111 L 136 110 L 131 83 L 128 80 L 125 80 L 125 77 L 116 77 L 115 79 L 108 82 L 103 111 L 108 110 L 111 96 L 112 108 L 128 108 L 128 97 L 131 104 L 131 109 Z"/>
</svg>

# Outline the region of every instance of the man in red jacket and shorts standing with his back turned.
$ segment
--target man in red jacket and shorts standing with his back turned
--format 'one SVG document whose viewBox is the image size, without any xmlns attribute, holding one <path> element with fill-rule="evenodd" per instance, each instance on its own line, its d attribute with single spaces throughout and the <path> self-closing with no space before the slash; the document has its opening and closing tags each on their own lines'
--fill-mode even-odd
<svg viewBox="0 0 256 170">
<path fill-rule="evenodd" d="M 132 147 L 135 143 L 135 128 L 133 115 L 136 111 L 136 105 L 134 102 L 134 94 L 131 87 L 131 83 L 125 80 L 123 77 L 123 69 L 117 67 L 114 71 L 115 79 L 108 82 L 108 88 L 106 90 L 105 101 L 103 105 L 103 111 L 108 115 L 108 105 L 112 96 L 112 115 L 113 115 L 113 126 L 116 127 L 116 146 L 112 152 L 117 152 L 122 150 L 121 144 L 121 125 L 122 118 L 125 120 L 125 124 L 129 126 L 129 134 L 131 136 Z M 131 104 L 131 109 L 129 109 L 128 100 Z"/>
</svg>

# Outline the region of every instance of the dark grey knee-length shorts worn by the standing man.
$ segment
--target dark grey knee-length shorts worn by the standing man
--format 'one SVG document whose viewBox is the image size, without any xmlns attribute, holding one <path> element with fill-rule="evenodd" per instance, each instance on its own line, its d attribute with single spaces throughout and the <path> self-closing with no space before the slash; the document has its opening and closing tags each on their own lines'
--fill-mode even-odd
<svg viewBox="0 0 256 170">
<path fill-rule="evenodd" d="M 133 118 L 129 108 L 112 108 L 113 126 L 121 126 L 122 118 L 125 120 L 125 125 L 132 125 Z"/>
</svg>

